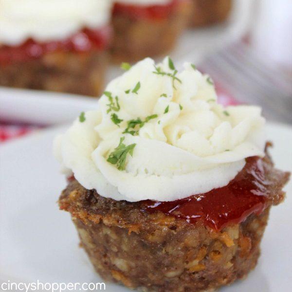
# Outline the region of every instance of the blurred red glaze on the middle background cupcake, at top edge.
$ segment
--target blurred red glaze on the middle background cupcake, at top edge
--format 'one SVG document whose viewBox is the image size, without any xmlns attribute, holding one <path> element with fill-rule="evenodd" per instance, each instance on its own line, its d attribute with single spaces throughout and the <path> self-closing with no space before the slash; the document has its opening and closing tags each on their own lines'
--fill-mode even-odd
<svg viewBox="0 0 292 292">
<path fill-rule="evenodd" d="M 172 0 L 163 5 L 133 5 L 126 3 L 115 3 L 113 6 L 113 15 L 124 14 L 135 19 L 164 19 L 175 9 L 175 7 L 183 1 L 189 0 Z"/>
</svg>

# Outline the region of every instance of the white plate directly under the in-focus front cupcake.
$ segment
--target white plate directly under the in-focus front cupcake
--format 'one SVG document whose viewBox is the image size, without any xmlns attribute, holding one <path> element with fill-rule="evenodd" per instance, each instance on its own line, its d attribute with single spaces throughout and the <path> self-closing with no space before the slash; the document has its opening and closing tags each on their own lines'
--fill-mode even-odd
<svg viewBox="0 0 292 292">
<path fill-rule="evenodd" d="M 0 282 L 102 282 L 93 272 L 67 212 L 57 199 L 65 187 L 52 157 L 54 128 L 0 146 Z M 292 171 L 292 128 L 269 125 L 276 166 Z M 222 292 L 291 291 L 292 183 L 272 209 L 258 265 Z M 128 289 L 107 284 L 108 292 Z"/>
</svg>

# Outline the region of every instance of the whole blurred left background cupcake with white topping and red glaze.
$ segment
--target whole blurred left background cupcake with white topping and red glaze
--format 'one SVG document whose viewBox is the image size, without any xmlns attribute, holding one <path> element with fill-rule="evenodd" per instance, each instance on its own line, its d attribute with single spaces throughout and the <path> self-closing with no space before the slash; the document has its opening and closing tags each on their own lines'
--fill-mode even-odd
<svg viewBox="0 0 292 292">
<path fill-rule="evenodd" d="M 0 0 L 0 85 L 98 95 L 109 0 Z"/>
</svg>

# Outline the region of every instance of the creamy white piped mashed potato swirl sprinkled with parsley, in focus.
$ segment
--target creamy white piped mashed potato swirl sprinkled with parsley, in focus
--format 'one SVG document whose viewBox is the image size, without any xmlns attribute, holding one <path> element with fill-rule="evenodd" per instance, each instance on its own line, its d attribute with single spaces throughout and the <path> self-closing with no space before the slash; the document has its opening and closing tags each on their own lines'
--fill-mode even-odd
<svg viewBox="0 0 292 292">
<path fill-rule="evenodd" d="M 219 105 L 194 65 L 177 72 L 168 57 L 146 58 L 112 80 L 54 149 L 65 173 L 103 197 L 174 201 L 227 185 L 245 158 L 263 156 L 264 123 L 258 107 Z M 134 148 L 118 169 L 109 157 L 121 138 Z"/>
</svg>

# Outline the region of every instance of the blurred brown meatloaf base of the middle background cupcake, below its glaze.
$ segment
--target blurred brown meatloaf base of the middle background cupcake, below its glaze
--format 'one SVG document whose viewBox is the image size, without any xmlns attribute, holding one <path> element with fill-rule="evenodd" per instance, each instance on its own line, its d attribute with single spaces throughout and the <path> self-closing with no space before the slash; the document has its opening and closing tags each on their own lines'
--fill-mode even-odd
<svg viewBox="0 0 292 292">
<path fill-rule="evenodd" d="M 135 62 L 169 52 L 189 21 L 190 8 L 190 2 L 182 1 L 167 18 L 158 20 L 113 15 L 112 61 Z"/>
</svg>

